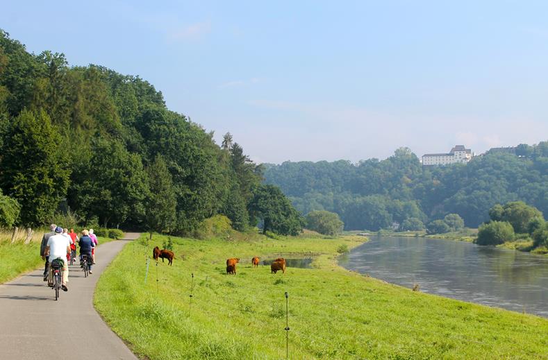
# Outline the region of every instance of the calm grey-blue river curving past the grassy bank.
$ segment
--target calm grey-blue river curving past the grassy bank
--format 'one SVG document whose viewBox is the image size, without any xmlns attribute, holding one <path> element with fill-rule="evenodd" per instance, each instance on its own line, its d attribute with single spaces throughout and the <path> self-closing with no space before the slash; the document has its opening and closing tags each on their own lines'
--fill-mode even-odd
<svg viewBox="0 0 548 360">
<path fill-rule="evenodd" d="M 548 318 L 548 258 L 462 241 L 371 237 L 349 270 L 420 291 Z"/>
</svg>

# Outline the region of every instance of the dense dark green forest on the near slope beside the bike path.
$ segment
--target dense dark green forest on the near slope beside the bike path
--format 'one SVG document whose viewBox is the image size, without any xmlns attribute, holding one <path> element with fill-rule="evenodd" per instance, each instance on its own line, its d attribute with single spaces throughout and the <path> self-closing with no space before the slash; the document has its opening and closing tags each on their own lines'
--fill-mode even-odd
<svg viewBox="0 0 548 360">
<path fill-rule="evenodd" d="M 67 212 L 83 224 L 176 234 L 216 214 L 238 230 L 303 224 L 230 134 L 219 146 L 138 76 L 28 53 L 1 30 L 0 150 L 0 226 Z"/>
</svg>

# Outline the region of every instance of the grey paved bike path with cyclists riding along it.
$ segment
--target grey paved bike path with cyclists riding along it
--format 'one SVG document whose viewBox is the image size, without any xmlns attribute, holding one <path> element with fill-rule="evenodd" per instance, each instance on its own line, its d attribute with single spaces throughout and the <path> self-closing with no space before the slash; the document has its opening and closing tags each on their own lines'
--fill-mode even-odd
<svg viewBox="0 0 548 360">
<path fill-rule="evenodd" d="M 0 285 L 1 359 L 138 359 L 103 322 L 93 307 L 99 275 L 129 240 L 99 245 L 93 274 L 69 266 L 69 291 L 55 291 L 43 281 L 43 268 Z M 38 256 L 38 255 L 37 255 Z"/>
</svg>

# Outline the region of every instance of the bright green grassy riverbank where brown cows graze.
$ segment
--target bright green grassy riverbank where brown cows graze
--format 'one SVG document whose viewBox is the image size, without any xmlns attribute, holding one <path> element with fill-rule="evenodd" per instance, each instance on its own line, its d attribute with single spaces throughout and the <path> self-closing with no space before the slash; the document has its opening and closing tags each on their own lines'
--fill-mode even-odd
<svg viewBox="0 0 548 360">
<path fill-rule="evenodd" d="M 101 276 L 94 302 L 107 323 L 149 359 L 285 357 L 289 293 L 292 359 L 541 359 L 548 320 L 413 292 L 336 266 L 337 250 L 363 237 L 174 240 L 174 266 L 129 243 Z M 313 269 L 270 274 L 254 255 L 317 255 Z M 238 275 L 225 259 L 240 257 Z M 156 284 L 158 271 L 158 284 Z M 191 273 L 194 297 L 190 309 Z M 157 288 L 158 286 L 158 288 Z"/>
</svg>

